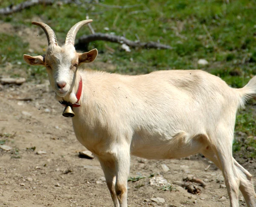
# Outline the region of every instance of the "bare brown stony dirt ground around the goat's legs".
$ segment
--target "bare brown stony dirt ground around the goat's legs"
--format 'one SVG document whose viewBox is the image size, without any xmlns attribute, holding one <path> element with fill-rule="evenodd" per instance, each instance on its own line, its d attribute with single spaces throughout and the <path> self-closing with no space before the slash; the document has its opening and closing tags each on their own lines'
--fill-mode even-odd
<svg viewBox="0 0 256 207">
<path fill-rule="evenodd" d="M 0 207 L 113 206 L 99 162 L 79 158 L 79 151 L 85 148 L 76 140 L 71 119 L 61 116 L 63 109 L 48 81 L 0 85 L 0 135 L 6 139 L 4 145 L 12 147 L 9 151 L 0 149 Z M 255 161 L 239 162 L 256 175 Z M 164 171 L 163 164 L 169 170 Z M 204 188 L 193 183 L 198 194 L 181 187 L 189 175 L 206 183 Z M 130 176 L 145 177 L 128 182 L 130 207 L 229 206 L 221 171 L 200 155 L 160 161 L 132 156 Z M 155 186 L 151 176 L 170 184 Z M 163 203 L 151 200 L 157 197 L 164 198 Z M 245 206 L 241 195 L 240 206 Z"/>
</svg>

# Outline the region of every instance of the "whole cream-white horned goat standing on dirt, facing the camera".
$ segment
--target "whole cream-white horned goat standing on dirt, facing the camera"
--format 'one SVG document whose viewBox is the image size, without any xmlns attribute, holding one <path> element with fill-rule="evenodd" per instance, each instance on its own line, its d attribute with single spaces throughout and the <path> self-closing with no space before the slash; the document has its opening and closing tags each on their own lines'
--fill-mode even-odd
<svg viewBox="0 0 256 207">
<path fill-rule="evenodd" d="M 92 20 L 73 26 L 60 47 L 44 23 L 46 55 L 24 54 L 30 65 L 44 65 L 59 101 L 76 103 L 82 79 L 81 107 L 72 118 L 76 137 L 99 159 L 115 207 L 127 207 L 130 155 L 175 159 L 202 153 L 225 178 L 231 207 L 239 207 L 239 189 L 248 207 L 256 207 L 252 175 L 232 156 L 236 111 L 256 95 L 256 77 L 244 88 L 200 70 L 156 71 L 128 76 L 81 71 L 98 51 L 83 54 L 74 47 L 77 31 Z"/>
</svg>

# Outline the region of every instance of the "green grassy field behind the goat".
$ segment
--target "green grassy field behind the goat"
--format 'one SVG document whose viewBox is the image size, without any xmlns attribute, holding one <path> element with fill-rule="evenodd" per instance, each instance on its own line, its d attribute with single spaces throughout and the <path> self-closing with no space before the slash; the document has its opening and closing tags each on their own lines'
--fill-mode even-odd
<svg viewBox="0 0 256 207">
<path fill-rule="evenodd" d="M 0 2 L 0 7 L 22 2 L 12 0 Z M 172 50 L 131 49 L 125 52 L 116 43 L 97 41 L 89 48 L 100 52 L 97 61 L 116 65 L 113 72 L 122 74 L 145 74 L 156 70 L 202 69 L 224 79 L 230 86 L 239 88 L 256 74 L 256 1 L 255 0 L 109 0 L 96 3 L 38 5 L 21 12 L 0 16 L 2 22 L 19 27 L 35 27 L 31 24 L 39 17 L 49 24 L 63 43 L 67 31 L 88 14 L 93 19 L 96 32 L 125 35 L 130 40 L 159 41 L 171 45 Z M 106 31 L 105 28 L 109 28 Z M 82 28 L 77 38 L 90 34 L 87 27 Z M 46 37 L 45 37 L 46 38 Z M 29 52 L 29 43 L 19 35 L 0 33 L 0 70 L 11 63 L 20 68 L 20 73 L 9 71 L 12 76 L 26 76 L 30 81 L 40 81 L 46 77 L 41 67 L 26 65 L 24 53 L 42 54 L 41 51 Z M 111 47 L 114 52 L 107 48 Z M 208 65 L 198 65 L 198 59 L 205 59 Z M 95 68 L 101 69 L 101 68 Z M 6 72 L 6 71 L 4 71 Z M 8 71 L 7 71 L 8 72 Z M 256 147 L 255 101 L 250 101 L 246 110 L 237 116 L 236 131 L 246 133 L 244 140 L 236 141 L 235 152 L 247 153 L 255 157 Z M 254 117 L 254 118 L 253 118 Z M 241 155 L 241 153 L 239 154 Z M 243 156 L 243 154 L 241 155 Z"/>
</svg>

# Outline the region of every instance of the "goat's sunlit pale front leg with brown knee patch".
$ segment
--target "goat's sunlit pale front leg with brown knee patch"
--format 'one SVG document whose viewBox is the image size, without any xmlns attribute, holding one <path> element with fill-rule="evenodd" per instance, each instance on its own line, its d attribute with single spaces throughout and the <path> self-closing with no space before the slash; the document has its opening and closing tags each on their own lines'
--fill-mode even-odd
<svg viewBox="0 0 256 207">
<path fill-rule="evenodd" d="M 120 207 L 127 207 L 127 180 L 130 170 L 130 147 L 119 147 L 115 159 L 116 196 Z"/>
</svg>

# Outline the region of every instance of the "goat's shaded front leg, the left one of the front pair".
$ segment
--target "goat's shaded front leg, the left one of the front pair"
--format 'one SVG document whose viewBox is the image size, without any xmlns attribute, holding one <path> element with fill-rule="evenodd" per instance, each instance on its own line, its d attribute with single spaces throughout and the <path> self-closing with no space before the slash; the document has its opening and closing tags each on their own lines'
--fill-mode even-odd
<svg viewBox="0 0 256 207">
<path fill-rule="evenodd" d="M 119 207 L 119 201 L 116 196 L 115 184 L 116 184 L 116 168 L 113 159 L 104 160 L 99 158 L 99 162 L 104 172 L 106 183 L 111 194 L 111 198 L 114 202 L 114 207 Z"/>
</svg>

